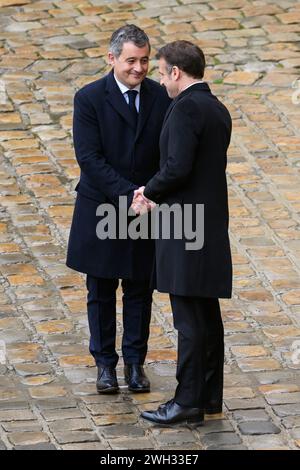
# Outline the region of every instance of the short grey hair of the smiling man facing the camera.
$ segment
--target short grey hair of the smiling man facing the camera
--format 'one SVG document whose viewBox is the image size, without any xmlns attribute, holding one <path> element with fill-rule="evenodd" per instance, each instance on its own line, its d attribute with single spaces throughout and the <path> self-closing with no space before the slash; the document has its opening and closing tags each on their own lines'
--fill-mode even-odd
<svg viewBox="0 0 300 470">
<path fill-rule="evenodd" d="M 122 54 L 125 42 L 133 42 L 137 47 L 148 45 L 150 52 L 150 41 L 147 34 L 134 24 L 122 26 L 112 34 L 109 49 L 115 57 L 119 57 Z"/>
</svg>

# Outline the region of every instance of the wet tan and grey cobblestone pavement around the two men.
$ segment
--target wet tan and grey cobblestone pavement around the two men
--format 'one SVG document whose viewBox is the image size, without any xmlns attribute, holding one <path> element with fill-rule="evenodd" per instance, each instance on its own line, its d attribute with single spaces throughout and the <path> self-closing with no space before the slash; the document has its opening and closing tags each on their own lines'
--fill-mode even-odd
<svg viewBox="0 0 300 470">
<path fill-rule="evenodd" d="M 299 448 L 299 3 L 0 6 L 0 449 Z M 177 38 L 203 47 L 206 80 L 234 120 L 234 295 L 222 301 L 225 416 L 201 428 L 139 418 L 175 386 L 167 295 L 155 295 L 147 358 L 153 392 L 132 395 L 123 385 L 114 397 L 100 396 L 84 277 L 64 264 L 79 175 L 72 99 L 107 70 L 108 39 L 124 22 L 146 28 L 154 49 Z M 120 297 L 118 321 L 121 328 Z M 124 384 L 121 362 L 119 376 Z"/>
</svg>

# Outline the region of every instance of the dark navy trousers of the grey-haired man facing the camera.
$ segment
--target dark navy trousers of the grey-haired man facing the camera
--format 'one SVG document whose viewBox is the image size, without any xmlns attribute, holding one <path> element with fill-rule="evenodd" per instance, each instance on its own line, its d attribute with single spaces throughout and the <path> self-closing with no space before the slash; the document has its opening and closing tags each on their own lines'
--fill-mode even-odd
<svg viewBox="0 0 300 470">
<path fill-rule="evenodd" d="M 116 367 L 116 290 L 118 279 L 87 275 L 90 353 L 96 364 Z M 152 290 L 149 282 L 122 280 L 122 354 L 126 364 L 143 364 L 147 354 Z"/>
</svg>

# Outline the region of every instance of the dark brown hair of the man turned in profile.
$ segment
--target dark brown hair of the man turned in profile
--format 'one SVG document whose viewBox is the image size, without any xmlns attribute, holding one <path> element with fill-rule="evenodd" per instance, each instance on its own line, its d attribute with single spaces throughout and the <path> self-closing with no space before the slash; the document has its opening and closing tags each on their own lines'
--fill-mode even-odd
<svg viewBox="0 0 300 470">
<path fill-rule="evenodd" d="M 174 41 L 163 46 L 156 54 L 157 59 L 165 59 L 168 73 L 176 65 L 193 78 L 202 78 L 205 69 L 205 57 L 200 47 L 189 41 Z"/>
</svg>

